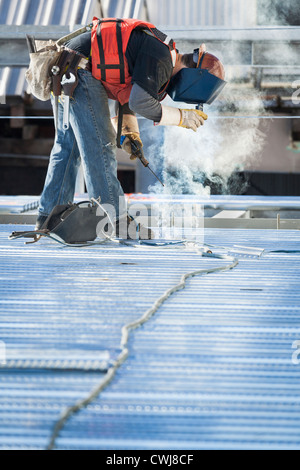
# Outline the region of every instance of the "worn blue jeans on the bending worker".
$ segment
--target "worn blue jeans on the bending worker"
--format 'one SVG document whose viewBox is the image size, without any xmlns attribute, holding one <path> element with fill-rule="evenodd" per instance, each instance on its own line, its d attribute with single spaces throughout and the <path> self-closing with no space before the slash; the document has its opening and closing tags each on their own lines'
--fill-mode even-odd
<svg viewBox="0 0 300 470">
<path fill-rule="evenodd" d="M 125 198 L 117 179 L 116 133 L 110 120 L 107 94 L 91 72 L 79 70 L 78 80 L 70 99 L 68 130 L 63 129 L 64 104 L 60 102 L 58 105 L 58 128 L 40 199 L 39 216 L 48 216 L 56 205 L 73 201 L 82 161 L 89 198 L 100 197 L 101 203 L 112 205 L 118 218 L 125 213 Z"/>
</svg>

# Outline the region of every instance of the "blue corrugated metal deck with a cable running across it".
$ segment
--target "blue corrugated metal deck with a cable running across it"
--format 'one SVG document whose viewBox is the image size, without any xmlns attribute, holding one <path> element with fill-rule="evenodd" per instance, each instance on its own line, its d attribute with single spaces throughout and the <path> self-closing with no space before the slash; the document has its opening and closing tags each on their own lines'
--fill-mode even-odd
<svg viewBox="0 0 300 470">
<path fill-rule="evenodd" d="M 24 246 L 8 241 L 15 228 L 0 226 L 0 449 L 45 449 L 119 354 L 121 327 L 182 274 L 228 261 L 183 247 Z M 265 251 L 188 280 L 132 332 L 127 361 L 57 449 L 300 449 L 299 231 L 206 230 L 205 242 Z"/>
</svg>

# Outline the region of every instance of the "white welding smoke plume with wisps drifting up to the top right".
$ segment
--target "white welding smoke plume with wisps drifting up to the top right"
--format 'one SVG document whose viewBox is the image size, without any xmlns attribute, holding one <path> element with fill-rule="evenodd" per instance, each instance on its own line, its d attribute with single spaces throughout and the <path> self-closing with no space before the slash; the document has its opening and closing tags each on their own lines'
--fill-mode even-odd
<svg viewBox="0 0 300 470">
<path fill-rule="evenodd" d="M 284 2 L 260 0 L 257 3 L 260 8 L 259 24 L 266 26 L 284 24 L 285 18 L 290 14 L 290 4 L 291 2 L 287 2 L 284 7 Z M 240 47 L 237 42 L 227 46 L 225 63 L 236 64 L 237 57 L 243 54 Z M 276 50 L 272 47 L 270 44 L 269 50 L 265 52 L 266 57 L 262 56 L 263 61 L 272 63 L 273 60 L 277 60 L 278 65 L 281 63 L 278 60 L 284 60 L 283 67 L 287 63 L 298 64 L 299 60 L 288 43 L 282 44 L 280 49 L 278 44 Z M 212 52 L 218 55 L 217 51 Z M 219 57 L 222 60 L 222 51 Z M 237 78 L 240 79 L 239 84 L 236 84 Z M 160 185 L 156 184 L 149 188 L 150 191 L 209 195 L 212 185 L 217 185 L 218 192 L 223 194 L 230 192 L 242 194 L 246 190 L 246 186 L 241 185 L 238 176 L 235 175 L 240 171 L 255 169 L 259 164 L 269 123 L 259 118 L 222 120 L 220 106 L 226 115 L 266 114 L 261 93 L 254 86 L 253 70 L 245 71 L 245 68 L 227 66 L 226 80 L 228 84 L 220 100 L 211 107 L 204 105 L 208 121 L 198 129 L 197 133 L 181 128 L 164 129 L 164 143 L 154 166 L 157 171 L 163 167 L 165 189 L 162 190 Z M 176 106 L 174 103 L 172 105 Z M 267 114 L 271 114 L 269 110 Z M 218 115 L 219 119 L 214 119 L 213 115 Z M 154 155 L 157 155 L 157 149 L 153 152 Z"/>
</svg>

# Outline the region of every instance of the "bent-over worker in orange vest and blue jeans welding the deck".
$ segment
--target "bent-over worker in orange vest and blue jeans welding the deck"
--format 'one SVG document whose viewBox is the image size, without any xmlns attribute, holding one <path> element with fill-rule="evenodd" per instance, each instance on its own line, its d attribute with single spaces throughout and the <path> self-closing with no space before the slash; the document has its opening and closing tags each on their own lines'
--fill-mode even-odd
<svg viewBox="0 0 300 470">
<path fill-rule="evenodd" d="M 69 126 L 64 122 L 67 105 L 64 97 L 56 110 L 55 143 L 36 229 L 43 228 L 56 205 L 73 200 L 77 171 L 82 162 L 89 197 L 100 198 L 102 204 L 114 208 L 119 236 L 120 221 L 130 224 L 131 219 L 127 216 L 124 192 L 117 179 L 116 128 L 119 128 L 119 146 L 130 158 L 137 156 L 137 149 L 142 152 L 143 145 L 136 113 L 155 125 L 197 131 L 207 119 L 202 111 L 164 106 L 161 101 L 169 93 L 177 101 L 183 96 L 185 102 L 193 102 L 189 101 L 189 96 L 184 96 L 188 89 L 190 96 L 195 93 L 199 96 L 204 90 L 207 96 L 200 97 L 199 102 L 209 103 L 225 84 L 224 68 L 216 57 L 206 53 L 204 45 L 192 54 L 179 54 L 175 43 L 150 23 L 94 18 L 89 26 L 77 36 L 73 34 L 75 37 L 64 44 L 67 50 L 88 60 L 77 73 L 78 83 L 70 99 Z M 207 72 L 217 84 L 203 81 L 205 74 L 202 72 L 202 78 L 196 81 L 189 76 L 181 77 L 183 70 L 196 69 Z M 118 119 L 111 120 L 108 98 L 120 104 Z M 52 103 L 54 105 L 53 98 Z M 117 121 L 115 128 L 113 121 Z M 153 233 L 141 227 L 139 236 L 152 238 Z"/>
</svg>

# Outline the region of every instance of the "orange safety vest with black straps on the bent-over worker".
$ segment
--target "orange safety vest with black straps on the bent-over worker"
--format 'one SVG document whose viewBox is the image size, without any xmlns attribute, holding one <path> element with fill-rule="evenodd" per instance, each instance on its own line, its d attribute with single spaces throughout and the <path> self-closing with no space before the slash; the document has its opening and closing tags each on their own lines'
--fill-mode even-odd
<svg viewBox="0 0 300 470">
<path fill-rule="evenodd" d="M 128 103 L 132 89 L 128 62 L 125 56 L 128 41 L 135 28 L 148 30 L 151 35 L 169 47 L 173 67 L 176 62 L 175 42 L 158 31 L 155 26 L 135 19 L 93 18 L 92 28 L 92 75 L 104 85 L 108 97 Z M 166 96 L 165 89 L 160 99 Z"/>
</svg>

